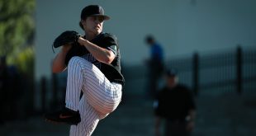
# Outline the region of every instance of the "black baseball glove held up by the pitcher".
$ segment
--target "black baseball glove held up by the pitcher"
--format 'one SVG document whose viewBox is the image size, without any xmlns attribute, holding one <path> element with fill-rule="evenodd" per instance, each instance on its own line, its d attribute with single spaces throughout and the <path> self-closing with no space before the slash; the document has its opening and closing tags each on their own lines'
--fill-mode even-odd
<svg viewBox="0 0 256 136">
<path fill-rule="evenodd" d="M 81 35 L 74 30 L 66 30 L 60 34 L 54 41 L 53 47 L 58 48 L 62 45 L 74 45 Z"/>
</svg>

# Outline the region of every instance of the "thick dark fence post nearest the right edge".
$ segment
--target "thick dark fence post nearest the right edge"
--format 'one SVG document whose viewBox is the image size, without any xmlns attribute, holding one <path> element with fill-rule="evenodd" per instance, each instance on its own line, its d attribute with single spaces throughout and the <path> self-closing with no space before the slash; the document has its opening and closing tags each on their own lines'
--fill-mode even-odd
<svg viewBox="0 0 256 136">
<path fill-rule="evenodd" d="M 242 93 L 242 49 L 238 45 L 236 49 L 236 89 L 239 94 Z"/>
</svg>

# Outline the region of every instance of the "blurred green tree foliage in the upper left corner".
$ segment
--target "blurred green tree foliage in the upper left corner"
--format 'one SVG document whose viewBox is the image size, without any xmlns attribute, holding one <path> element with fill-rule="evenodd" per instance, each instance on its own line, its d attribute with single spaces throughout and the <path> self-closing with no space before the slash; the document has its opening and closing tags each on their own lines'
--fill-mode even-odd
<svg viewBox="0 0 256 136">
<path fill-rule="evenodd" d="M 36 0 L 0 0 L 0 56 L 33 76 Z"/>
</svg>

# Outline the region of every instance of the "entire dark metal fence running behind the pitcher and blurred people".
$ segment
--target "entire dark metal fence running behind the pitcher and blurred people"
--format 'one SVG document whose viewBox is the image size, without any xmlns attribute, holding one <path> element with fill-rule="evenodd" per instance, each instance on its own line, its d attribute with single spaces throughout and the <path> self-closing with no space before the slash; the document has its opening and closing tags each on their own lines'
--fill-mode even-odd
<svg viewBox="0 0 256 136">
<path fill-rule="evenodd" d="M 236 49 L 224 50 L 218 53 L 195 53 L 186 58 L 169 59 L 165 65 L 167 68 L 176 68 L 179 81 L 191 87 L 197 96 L 204 91 L 236 91 L 241 94 L 243 91 L 254 91 L 256 89 L 255 48 L 242 49 L 239 46 Z M 147 66 L 142 64 L 122 69 L 126 77 L 124 96 L 145 95 L 148 76 Z M 64 102 L 64 87 L 66 85 L 65 75 L 57 76 L 53 74 L 48 85 L 51 86 L 51 91 L 45 91 L 44 80 L 41 81 L 43 110 L 45 110 L 45 102 L 53 107 Z M 48 106 L 48 108 L 50 107 Z"/>
</svg>

